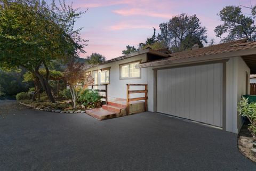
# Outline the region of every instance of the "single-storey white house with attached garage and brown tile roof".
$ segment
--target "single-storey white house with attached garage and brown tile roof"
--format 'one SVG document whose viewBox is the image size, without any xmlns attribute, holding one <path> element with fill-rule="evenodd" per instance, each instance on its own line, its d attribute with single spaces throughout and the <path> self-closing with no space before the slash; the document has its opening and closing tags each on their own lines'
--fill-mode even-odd
<svg viewBox="0 0 256 171">
<path fill-rule="evenodd" d="M 138 102 L 148 111 L 238 133 L 243 120 L 237 103 L 249 93 L 250 74 L 256 74 L 256 42 L 240 39 L 177 53 L 148 48 L 87 68 L 86 74 L 92 74 L 95 85 L 108 85 L 107 98 L 123 100 L 118 105 L 108 103 L 103 108 L 108 111 L 121 112 L 127 107 L 128 91 L 134 91 L 129 85 L 127 90 L 126 84 L 141 84 L 134 87 L 145 86 L 147 91 L 129 98 L 142 100 L 146 94 L 146 104 Z"/>
</svg>

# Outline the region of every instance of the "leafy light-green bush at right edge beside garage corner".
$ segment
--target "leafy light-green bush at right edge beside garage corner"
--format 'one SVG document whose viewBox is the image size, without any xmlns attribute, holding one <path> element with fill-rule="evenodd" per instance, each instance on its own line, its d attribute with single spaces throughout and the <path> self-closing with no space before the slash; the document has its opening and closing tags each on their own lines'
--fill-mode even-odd
<svg viewBox="0 0 256 171">
<path fill-rule="evenodd" d="M 248 103 L 248 98 L 242 98 L 238 103 L 237 111 L 243 117 L 247 117 L 250 120 L 250 125 L 248 127 L 249 131 L 256 139 L 256 103 Z"/>
</svg>

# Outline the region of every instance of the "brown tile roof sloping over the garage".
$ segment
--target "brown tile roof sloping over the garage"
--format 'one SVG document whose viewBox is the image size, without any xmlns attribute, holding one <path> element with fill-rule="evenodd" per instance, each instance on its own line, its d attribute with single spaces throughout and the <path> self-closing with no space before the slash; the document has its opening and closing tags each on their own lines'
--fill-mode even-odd
<svg viewBox="0 0 256 171">
<path fill-rule="evenodd" d="M 239 39 L 232 42 L 221 43 L 218 45 L 212 45 L 202 48 L 197 48 L 195 50 L 175 52 L 169 54 L 169 58 L 164 58 L 161 60 L 155 60 L 150 62 L 144 62 L 138 65 L 139 68 L 154 66 L 154 63 L 164 62 L 164 61 L 175 61 L 175 60 L 186 60 L 190 58 L 195 58 L 199 56 L 221 54 L 233 51 L 247 50 L 251 48 L 256 48 L 256 42 L 247 42 L 247 39 Z"/>
</svg>

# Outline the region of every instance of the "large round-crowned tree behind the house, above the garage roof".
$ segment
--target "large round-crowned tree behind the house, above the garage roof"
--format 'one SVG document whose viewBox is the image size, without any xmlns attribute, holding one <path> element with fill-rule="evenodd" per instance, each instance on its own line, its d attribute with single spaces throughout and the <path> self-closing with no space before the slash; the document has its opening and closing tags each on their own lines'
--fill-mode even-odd
<svg viewBox="0 0 256 171">
<path fill-rule="evenodd" d="M 179 14 L 169 22 L 160 24 L 159 28 L 161 34 L 158 34 L 158 40 L 163 41 L 173 52 L 188 50 L 194 44 L 203 47 L 203 42 L 207 43 L 207 30 L 201 26 L 196 15 Z"/>
</svg>

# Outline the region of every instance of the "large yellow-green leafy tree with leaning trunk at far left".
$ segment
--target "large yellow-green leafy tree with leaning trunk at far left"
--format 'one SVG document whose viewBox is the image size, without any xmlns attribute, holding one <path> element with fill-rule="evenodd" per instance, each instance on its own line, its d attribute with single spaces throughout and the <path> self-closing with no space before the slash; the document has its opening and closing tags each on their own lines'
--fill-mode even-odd
<svg viewBox="0 0 256 171">
<path fill-rule="evenodd" d="M 49 66 L 54 60 L 84 53 L 86 40 L 74 24 L 83 12 L 54 1 L 51 6 L 40 0 L 0 0 L 0 67 L 25 68 L 33 73 L 54 102 L 49 80 Z M 39 68 L 44 67 L 46 77 Z"/>
</svg>

